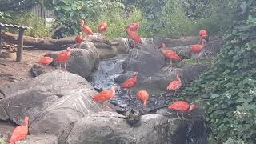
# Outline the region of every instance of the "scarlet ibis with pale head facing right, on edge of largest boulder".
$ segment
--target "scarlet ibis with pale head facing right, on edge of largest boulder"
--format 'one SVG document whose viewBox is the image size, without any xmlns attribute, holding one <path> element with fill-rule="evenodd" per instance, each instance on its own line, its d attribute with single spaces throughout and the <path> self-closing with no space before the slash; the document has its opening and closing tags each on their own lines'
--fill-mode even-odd
<svg viewBox="0 0 256 144">
<path fill-rule="evenodd" d="M 110 100 L 110 98 L 115 97 L 115 90 L 118 90 L 117 86 L 112 86 L 110 90 L 102 90 L 100 93 L 94 95 L 93 100 L 102 102 L 102 111 L 103 111 L 103 103 Z"/>
</svg>

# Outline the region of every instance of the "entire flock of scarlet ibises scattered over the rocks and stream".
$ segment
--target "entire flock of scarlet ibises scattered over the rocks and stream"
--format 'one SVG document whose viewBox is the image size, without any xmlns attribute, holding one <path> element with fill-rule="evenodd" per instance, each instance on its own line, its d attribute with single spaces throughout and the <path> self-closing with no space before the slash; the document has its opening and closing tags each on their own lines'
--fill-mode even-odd
<svg viewBox="0 0 256 144">
<path fill-rule="evenodd" d="M 139 28 L 140 28 L 139 22 L 131 23 L 129 26 L 126 27 L 126 33 L 128 34 L 129 38 L 131 38 L 134 42 L 142 43 L 142 39 L 137 34 L 137 30 Z M 94 34 L 94 32 L 90 29 L 90 27 L 85 25 L 84 20 L 81 20 L 81 29 L 87 35 Z M 98 33 L 102 34 L 104 31 L 106 31 L 106 29 L 107 29 L 106 23 L 102 22 L 98 26 Z M 191 53 L 199 54 L 200 51 L 204 48 L 205 42 L 208 41 L 208 34 L 206 30 L 200 30 L 199 35 L 201 37 L 200 42 L 199 44 L 191 46 L 191 49 L 190 49 Z M 79 35 L 75 38 L 76 43 L 81 43 L 84 41 L 85 41 L 85 38 L 82 37 L 82 33 L 79 33 Z M 178 54 L 176 54 L 172 50 L 166 50 L 166 49 L 167 49 L 166 44 L 163 43 L 162 54 L 166 58 L 170 59 L 169 66 L 172 67 L 172 61 L 175 61 L 175 62 L 181 61 L 182 58 Z M 55 58 L 55 60 L 53 58 L 44 56 L 40 59 L 38 63 L 45 66 L 48 66 L 53 61 L 59 62 L 60 64 L 64 63 L 65 70 L 66 70 L 66 62 L 70 58 L 70 51 L 71 51 L 71 48 L 68 47 L 65 51 L 61 51 L 60 53 L 58 53 L 58 56 L 57 58 Z M 167 67 L 167 69 L 169 68 L 169 66 Z M 125 82 L 122 83 L 121 88 L 128 89 L 127 90 L 128 95 L 130 95 L 129 90 L 131 90 L 131 88 L 133 88 L 138 83 L 137 77 L 138 77 L 138 72 L 134 72 L 134 76 L 132 78 L 128 78 Z M 179 74 L 176 74 L 176 78 L 177 79 L 170 82 L 170 84 L 166 88 L 166 90 L 175 90 L 174 98 L 175 98 L 176 90 L 179 90 L 182 86 L 182 81 L 179 78 Z M 118 90 L 118 87 L 112 86 L 110 90 L 102 90 L 100 93 L 94 95 L 92 99 L 94 101 L 102 102 L 102 107 L 103 107 L 104 102 L 110 100 L 110 98 L 115 97 L 115 90 Z M 142 105 L 146 107 L 148 100 L 150 98 L 150 95 L 146 90 L 139 90 L 137 93 L 137 98 L 142 102 Z M 178 101 L 171 104 L 168 108 L 170 110 L 176 110 L 178 118 L 180 118 L 178 115 L 178 112 L 182 113 L 182 118 L 184 118 L 183 113 L 190 113 L 192 110 L 197 109 L 198 106 L 194 104 L 190 105 L 188 102 L 185 102 L 185 101 Z M 21 141 L 22 139 L 26 138 L 26 135 L 28 134 L 28 124 L 29 124 L 29 117 L 26 116 L 26 118 L 24 119 L 24 125 L 17 126 L 14 129 L 13 134 L 10 138 L 10 144 L 14 144 L 14 142 Z"/>
</svg>

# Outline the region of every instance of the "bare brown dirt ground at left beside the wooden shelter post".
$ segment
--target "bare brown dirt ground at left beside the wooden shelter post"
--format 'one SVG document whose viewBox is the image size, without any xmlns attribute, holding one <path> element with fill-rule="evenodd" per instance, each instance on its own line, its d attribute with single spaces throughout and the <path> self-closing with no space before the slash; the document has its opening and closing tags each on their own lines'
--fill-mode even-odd
<svg viewBox="0 0 256 144">
<path fill-rule="evenodd" d="M 24 50 L 22 62 L 16 62 L 15 58 L 0 57 L 0 88 L 11 82 L 32 78 L 30 68 L 38 63 L 39 59 L 48 52 L 46 50 Z M 13 123 L 0 121 L 0 134 L 3 135 L 6 132 L 10 134 L 13 129 Z"/>
</svg>

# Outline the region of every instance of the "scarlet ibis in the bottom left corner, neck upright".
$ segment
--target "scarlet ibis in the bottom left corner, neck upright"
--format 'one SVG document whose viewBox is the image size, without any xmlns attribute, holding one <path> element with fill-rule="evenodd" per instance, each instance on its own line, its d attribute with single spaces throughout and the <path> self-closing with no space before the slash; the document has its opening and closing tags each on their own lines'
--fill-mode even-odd
<svg viewBox="0 0 256 144">
<path fill-rule="evenodd" d="M 21 141 L 22 139 L 26 138 L 26 135 L 29 132 L 29 117 L 25 117 L 24 124 L 22 126 L 17 126 L 13 134 L 10 137 L 10 144 L 14 144 L 16 141 Z"/>
</svg>

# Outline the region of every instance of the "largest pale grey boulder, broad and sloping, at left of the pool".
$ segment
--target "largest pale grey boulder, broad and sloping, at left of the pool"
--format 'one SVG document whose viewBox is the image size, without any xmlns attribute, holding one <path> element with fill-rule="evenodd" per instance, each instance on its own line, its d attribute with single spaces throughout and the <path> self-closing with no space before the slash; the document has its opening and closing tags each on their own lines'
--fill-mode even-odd
<svg viewBox="0 0 256 144">
<path fill-rule="evenodd" d="M 99 102 L 92 101 L 97 92 L 84 78 L 55 71 L 26 82 L 1 88 L 0 119 L 21 125 L 30 117 L 30 134 L 54 134 L 65 141 L 74 122 L 86 114 L 102 111 Z M 105 103 L 103 110 L 113 110 Z M 3 116 L 2 116 L 3 115 Z"/>
</svg>

